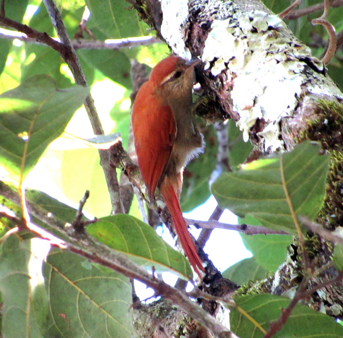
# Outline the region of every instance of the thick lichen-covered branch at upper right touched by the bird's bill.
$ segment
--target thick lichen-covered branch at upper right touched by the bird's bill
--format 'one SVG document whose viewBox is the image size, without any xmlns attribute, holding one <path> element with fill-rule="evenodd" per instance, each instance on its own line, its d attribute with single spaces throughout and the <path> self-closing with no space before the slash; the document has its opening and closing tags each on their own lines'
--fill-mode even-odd
<svg viewBox="0 0 343 338">
<path fill-rule="evenodd" d="M 216 106 L 262 154 L 291 150 L 320 98 L 343 100 L 323 62 L 260 1 L 162 1 L 161 13 L 174 53 L 204 62 L 202 111 Z"/>
</svg>

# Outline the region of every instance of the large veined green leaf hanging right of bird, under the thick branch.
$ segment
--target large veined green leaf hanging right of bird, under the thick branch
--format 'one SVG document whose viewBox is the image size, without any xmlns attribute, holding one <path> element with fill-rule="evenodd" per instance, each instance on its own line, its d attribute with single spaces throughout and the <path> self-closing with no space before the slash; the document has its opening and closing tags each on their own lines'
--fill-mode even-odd
<svg viewBox="0 0 343 338">
<path fill-rule="evenodd" d="M 318 144 L 304 142 L 292 152 L 251 162 L 239 172 L 223 173 L 212 184 L 212 193 L 223 209 L 251 215 L 269 229 L 296 234 L 286 192 L 296 215 L 316 217 L 329 166 L 329 156 L 318 152 Z"/>
</svg>

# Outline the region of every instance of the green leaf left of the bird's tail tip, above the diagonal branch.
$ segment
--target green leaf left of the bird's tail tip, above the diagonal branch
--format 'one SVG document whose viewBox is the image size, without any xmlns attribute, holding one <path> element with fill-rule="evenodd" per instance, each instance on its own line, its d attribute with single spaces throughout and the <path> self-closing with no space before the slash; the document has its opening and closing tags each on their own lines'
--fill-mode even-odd
<svg viewBox="0 0 343 338">
<path fill-rule="evenodd" d="M 112 249 L 127 254 L 144 268 L 173 271 L 180 277 L 193 277 L 190 265 L 175 249 L 159 237 L 150 225 L 130 215 L 117 214 L 100 219 L 87 232 Z"/>
</svg>

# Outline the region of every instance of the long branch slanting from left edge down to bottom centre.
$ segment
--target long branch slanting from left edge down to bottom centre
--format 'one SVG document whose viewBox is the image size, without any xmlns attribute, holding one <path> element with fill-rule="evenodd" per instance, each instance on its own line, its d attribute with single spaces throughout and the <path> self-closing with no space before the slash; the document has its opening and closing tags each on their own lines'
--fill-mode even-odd
<svg viewBox="0 0 343 338">
<path fill-rule="evenodd" d="M 20 205 L 19 195 L 1 181 L 0 194 L 13 203 Z M 192 302 L 184 292 L 173 288 L 163 280 L 150 275 L 146 270 L 133 263 L 125 255 L 95 241 L 93 237 L 85 232 L 77 233 L 73 230 L 70 231 L 73 229 L 71 226 L 66 227 L 64 223 L 55 219 L 53 216 L 48 217 L 47 210 L 34 205 L 30 201 L 27 201 L 27 208 L 33 216 L 37 217 L 39 220 L 48 224 L 68 238 L 70 242 L 64 242 L 64 245 L 70 252 L 85 257 L 93 263 L 106 266 L 128 278 L 141 281 L 148 287 L 154 289 L 156 294 L 169 299 L 174 305 L 177 305 L 186 311 L 194 320 L 208 328 L 214 336 L 237 338 L 234 333 L 229 331 L 225 326 L 218 322 L 218 320 L 208 314 L 198 304 Z"/>
</svg>

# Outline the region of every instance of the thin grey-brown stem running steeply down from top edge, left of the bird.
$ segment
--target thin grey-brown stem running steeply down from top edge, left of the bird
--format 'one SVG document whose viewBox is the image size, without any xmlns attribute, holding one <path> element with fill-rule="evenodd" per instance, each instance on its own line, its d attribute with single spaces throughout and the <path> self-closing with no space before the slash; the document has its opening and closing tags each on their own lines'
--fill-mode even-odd
<svg viewBox="0 0 343 338">
<path fill-rule="evenodd" d="M 74 76 L 75 82 L 82 86 L 87 86 L 87 81 L 85 75 L 81 69 L 81 64 L 75 50 L 71 44 L 70 38 L 67 33 L 66 26 L 62 21 L 60 12 L 58 11 L 54 1 L 43 0 L 45 7 L 49 13 L 52 24 L 54 25 L 57 35 L 60 38 L 63 45 L 68 49 L 68 58 L 66 62 Z M 84 102 L 86 112 L 91 121 L 91 125 L 95 135 L 101 135 L 104 133 L 102 125 L 100 123 L 99 116 L 97 114 L 94 101 L 91 95 L 86 97 Z M 99 149 L 100 164 L 103 167 L 105 178 L 107 182 L 107 187 L 110 195 L 111 205 L 113 213 L 124 213 L 123 202 L 119 193 L 119 183 L 117 179 L 117 173 L 110 166 L 109 152 L 107 150 Z"/>
</svg>

